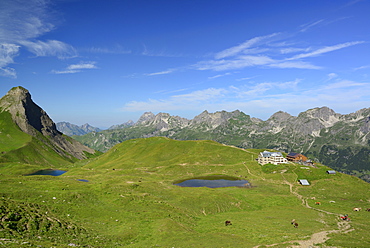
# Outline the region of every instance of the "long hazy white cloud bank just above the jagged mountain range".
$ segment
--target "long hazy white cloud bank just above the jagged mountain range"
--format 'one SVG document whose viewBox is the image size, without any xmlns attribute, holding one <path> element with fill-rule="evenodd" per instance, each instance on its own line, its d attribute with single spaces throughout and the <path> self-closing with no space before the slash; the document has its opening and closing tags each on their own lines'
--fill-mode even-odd
<svg viewBox="0 0 370 248">
<path fill-rule="evenodd" d="M 327 92 L 330 90 L 330 94 Z M 350 109 L 369 105 L 370 83 L 341 80 L 321 86 L 307 86 L 302 79 L 285 82 L 250 82 L 227 88 L 208 88 L 168 98 L 133 101 L 123 111 L 232 111 L 239 109 L 252 117 L 268 118 L 279 110 L 297 114 L 312 106 Z"/>
</svg>

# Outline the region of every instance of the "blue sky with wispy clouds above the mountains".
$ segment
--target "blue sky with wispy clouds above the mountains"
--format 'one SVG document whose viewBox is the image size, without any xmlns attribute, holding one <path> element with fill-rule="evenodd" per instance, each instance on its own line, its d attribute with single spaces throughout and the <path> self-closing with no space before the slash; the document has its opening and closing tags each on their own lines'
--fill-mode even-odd
<svg viewBox="0 0 370 248">
<path fill-rule="evenodd" d="M 55 122 L 370 107 L 369 0 L 2 0 L 0 95 Z"/>
</svg>

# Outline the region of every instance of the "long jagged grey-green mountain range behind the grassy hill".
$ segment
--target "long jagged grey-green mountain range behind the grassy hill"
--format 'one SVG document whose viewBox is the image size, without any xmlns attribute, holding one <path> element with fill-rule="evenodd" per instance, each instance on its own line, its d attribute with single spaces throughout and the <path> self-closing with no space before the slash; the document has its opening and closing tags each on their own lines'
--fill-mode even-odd
<svg viewBox="0 0 370 248">
<path fill-rule="evenodd" d="M 208 139 L 241 148 L 299 152 L 334 169 L 370 180 L 370 108 L 346 115 L 328 107 L 310 109 L 298 116 L 279 111 L 266 121 L 239 110 L 204 111 L 192 120 L 146 112 L 130 127 L 76 139 L 105 152 L 122 141 L 152 136 Z"/>
</svg>

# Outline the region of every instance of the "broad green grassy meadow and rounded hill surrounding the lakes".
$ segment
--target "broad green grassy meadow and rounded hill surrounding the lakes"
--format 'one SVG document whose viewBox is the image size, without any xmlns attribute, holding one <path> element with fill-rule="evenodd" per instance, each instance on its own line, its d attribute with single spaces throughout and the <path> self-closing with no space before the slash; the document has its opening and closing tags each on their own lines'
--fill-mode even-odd
<svg viewBox="0 0 370 248">
<path fill-rule="evenodd" d="M 255 161 L 260 151 L 155 137 L 125 141 L 98 158 L 71 165 L 59 177 L 22 176 L 29 168 L 22 171 L 20 166 L 14 174 L 14 165 L 7 164 L 0 167 L 5 206 L 0 245 L 287 247 L 305 241 L 370 246 L 370 213 L 364 211 L 370 207 L 368 183 L 345 174 L 328 175 L 325 166 L 260 166 Z M 252 187 L 173 185 L 180 179 L 220 174 L 247 179 Z M 308 179 L 311 185 L 301 186 L 297 179 Z M 318 201 L 321 205 L 315 205 Z M 353 212 L 353 207 L 362 211 Z M 340 221 L 340 214 L 349 214 L 352 221 Z M 27 218 L 48 228 L 22 229 Z M 298 228 L 291 225 L 293 218 Z M 226 220 L 232 225 L 225 226 Z M 56 231 L 56 225 L 61 229 Z"/>
</svg>

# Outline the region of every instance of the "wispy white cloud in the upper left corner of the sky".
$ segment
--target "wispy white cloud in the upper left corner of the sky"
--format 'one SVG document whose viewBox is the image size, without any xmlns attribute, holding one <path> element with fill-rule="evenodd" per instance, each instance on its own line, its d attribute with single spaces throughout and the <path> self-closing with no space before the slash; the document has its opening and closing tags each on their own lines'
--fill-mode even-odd
<svg viewBox="0 0 370 248">
<path fill-rule="evenodd" d="M 15 77 L 14 63 L 21 47 L 36 56 L 56 56 L 60 59 L 75 57 L 76 50 L 62 41 L 40 41 L 38 37 L 55 28 L 56 20 L 49 0 L 1 0 L 0 1 L 0 76 Z"/>
</svg>

